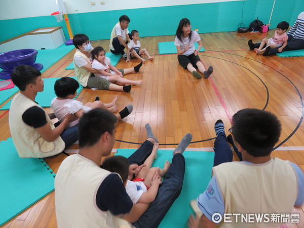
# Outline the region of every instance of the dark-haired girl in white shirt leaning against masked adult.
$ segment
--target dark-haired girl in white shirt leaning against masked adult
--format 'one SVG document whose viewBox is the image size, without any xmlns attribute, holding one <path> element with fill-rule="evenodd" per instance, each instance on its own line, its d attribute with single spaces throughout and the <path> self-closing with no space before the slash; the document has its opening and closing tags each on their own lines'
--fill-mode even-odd
<svg viewBox="0 0 304 228">
<path fill-rule="evenodd" d="M 92 68 L 98 70 L 100 74 L 95 74 L 95 76 L 108 80 L 111 83 L 125 86 L 133 85 L 139 86 L 142 83 L 142 80 L 133 81 L 124 79 L 124 75 L 131 72 L 138 72 L 142 62 L 137 66 L 128 69 L 117 69 L 115 66 L 111 65 L 110 59 L 105 57 L 105 51 L 102 47 L 96 47 L 91 52 Z"/>
</svg>

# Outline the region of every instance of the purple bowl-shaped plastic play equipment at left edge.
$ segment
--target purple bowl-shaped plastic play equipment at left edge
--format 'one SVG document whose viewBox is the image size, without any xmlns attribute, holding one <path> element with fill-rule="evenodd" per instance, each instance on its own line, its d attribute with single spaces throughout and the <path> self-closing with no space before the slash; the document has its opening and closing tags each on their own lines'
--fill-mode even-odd
<svg viewBox="0 0 304 228">
<path fill-rule="evenodd" d="M 41 70 L 43 65 L 35 63 L 37 57 L 37 50 L 35 49 L 20 49 L 0 54 L 0 79 L 11 79 L 11 73 L 16 66 L 21 64 L 30 65 L 37 70 Z"/>
</svg>

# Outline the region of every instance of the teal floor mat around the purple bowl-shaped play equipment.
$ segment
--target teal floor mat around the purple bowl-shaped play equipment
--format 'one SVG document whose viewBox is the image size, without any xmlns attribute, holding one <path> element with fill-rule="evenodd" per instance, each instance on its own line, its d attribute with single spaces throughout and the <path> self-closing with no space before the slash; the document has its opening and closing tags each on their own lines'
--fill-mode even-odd
<svg viewBox="0 0 304 228">
<path fill-rule="evenodd" d="M 41 72 L 43 72 L 46 69 L 48 69 L 51 65 L 53 65 L 55 62 L 57 62 L 59 59 L 61 59 L 63 56 L 65 56 L 72 49 L 73 46 L 66 46 L 65 44 L 63 44 L 55 49 L 37 50 L 38 54 L 35 62 L 43 64 L 43 68 L 41 70 Z M 1 90 L 0 105 L 5 101 L 7 101 L 11 96 L 13 96 L 18 91 L 19 89 L 16 86 L 12 89 Z"/>
</svg>

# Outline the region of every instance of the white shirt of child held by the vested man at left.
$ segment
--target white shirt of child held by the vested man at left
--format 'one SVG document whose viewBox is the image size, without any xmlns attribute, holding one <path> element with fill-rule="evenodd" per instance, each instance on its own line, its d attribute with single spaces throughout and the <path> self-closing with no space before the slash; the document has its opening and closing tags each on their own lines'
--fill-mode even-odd
<svg viewBox="0 0 304 228">
<path fill-rule="evenodd" d="M 90 107 L 84 106 L 82 102 L 74 99 L 57 99 L 53 98 L 51 102 L 51 108 L 54 111 L 55 116 L 58 118 L 61 123 L 64 120 L 64 117 L 67 114 L 74 114 L 75 112 L 83 109 L 84 112 L 88 112 L 91 110 Z M 73 127 L 79 123 L 79 119 L 68 124 L 68 128 Z"/>
</svg>

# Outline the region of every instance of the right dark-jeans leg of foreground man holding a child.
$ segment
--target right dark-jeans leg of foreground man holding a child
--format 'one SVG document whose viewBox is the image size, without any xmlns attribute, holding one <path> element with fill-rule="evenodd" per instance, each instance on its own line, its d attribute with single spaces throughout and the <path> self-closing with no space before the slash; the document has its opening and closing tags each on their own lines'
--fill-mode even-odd
<svg viewBox="0 0 304 228">
<path fill-rule="evenodd" d="M 158 227 L 181 192 L 185 173 L 185 159 L 178 153 L 173 156 L 171 166 L 159 187 L 155 200 L 143 215 L 133 223 L 135 227 Z"/>
</svg>

